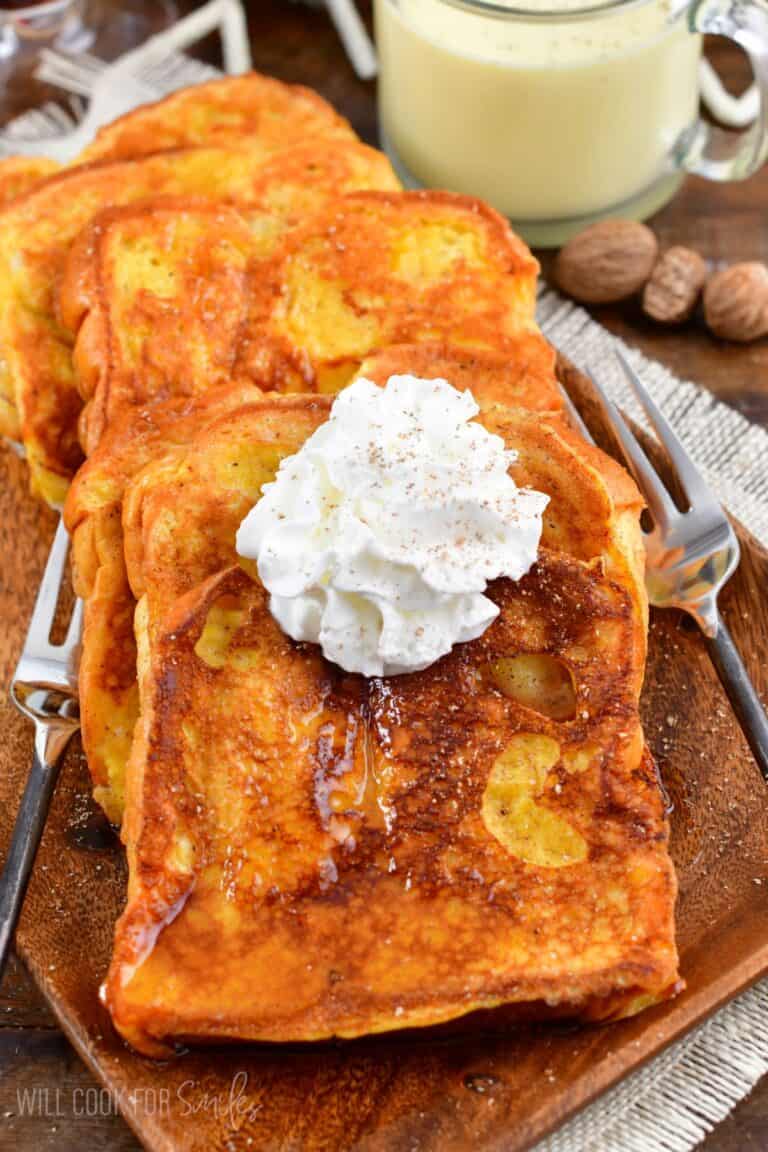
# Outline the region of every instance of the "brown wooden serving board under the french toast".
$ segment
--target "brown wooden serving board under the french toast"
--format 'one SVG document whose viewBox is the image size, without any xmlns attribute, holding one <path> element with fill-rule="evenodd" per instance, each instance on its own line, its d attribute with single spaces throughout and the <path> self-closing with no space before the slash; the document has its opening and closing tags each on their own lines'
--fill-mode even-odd
<svg viewBox="0 0 768 1152">
<path fill-rule="evenodd" d="M 567 366 L 571 394 L 585 381 Z M 10 679 L 55 525 L 0 454 L 0 635 Z M 768 690 L 768 554 L 742 532 L 723 612 L 759 691 Z M 31 753 L 3 697 L 0 854 Z M 686 991 L 606 1026 L 482 1024 L 339 1045 L 206 1047 L 157 1063 L 128 1049 L 98 999 L 126 865 L 90 801 L 73 742 L 18 932 L 61 1026 L 152 1152 L 504 1149 L 520 1152 L 700 1023 L 768 970 L 768 785 L 694 628 L 655 613 L 642 700 L 646 735 L 674 804 L 671 850 Z"/>
</svg>

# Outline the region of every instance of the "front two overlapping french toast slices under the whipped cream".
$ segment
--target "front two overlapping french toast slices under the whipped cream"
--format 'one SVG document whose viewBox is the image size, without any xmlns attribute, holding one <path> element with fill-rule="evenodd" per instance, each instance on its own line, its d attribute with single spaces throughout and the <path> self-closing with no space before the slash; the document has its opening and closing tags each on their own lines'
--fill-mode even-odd
<svg viewBox="0 0 768 1152">
<path fill-rule="evenodd" d="M 670 994 L 632 482 L 558 416 L 492 406 L 516 479 L 552 498 L 539 561 L 491 586 L 501 614 L 478 641 L 365 680 L 288 639 L 253 573 L 227 567 L 265 471 L 328 410 L 259 396 L 129 485 L 142 717 L 117 1029 L 158 1055 Z"/>
</svg>

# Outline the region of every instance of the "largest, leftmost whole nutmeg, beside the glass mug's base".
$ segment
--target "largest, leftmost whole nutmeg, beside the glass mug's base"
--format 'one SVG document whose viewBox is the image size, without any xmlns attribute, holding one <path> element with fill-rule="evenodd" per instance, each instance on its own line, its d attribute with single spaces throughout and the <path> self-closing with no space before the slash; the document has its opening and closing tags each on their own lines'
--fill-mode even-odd
<svg viewBox="0 0 768 1152">
<path fill-rule="evenodd" d="M 613 304 L 642 288 L 656 263 L 659 244 L 644 223 L 601 220 L 561 249 L 555 279 L 584 304 Z"/>
</svg>

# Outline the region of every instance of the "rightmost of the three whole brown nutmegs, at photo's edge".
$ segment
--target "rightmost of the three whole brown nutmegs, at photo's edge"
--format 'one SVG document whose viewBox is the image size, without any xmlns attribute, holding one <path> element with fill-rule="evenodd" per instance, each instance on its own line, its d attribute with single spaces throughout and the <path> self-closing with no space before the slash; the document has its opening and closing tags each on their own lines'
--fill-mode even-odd
<svg viewBox="0 0 768 1152">
<path fill-rule="evenodd" d="M 748 343 L 768 333 L 768 268 L 732 264 L 707 280 L 704 318 L 716 336 Z"/>
</svg>

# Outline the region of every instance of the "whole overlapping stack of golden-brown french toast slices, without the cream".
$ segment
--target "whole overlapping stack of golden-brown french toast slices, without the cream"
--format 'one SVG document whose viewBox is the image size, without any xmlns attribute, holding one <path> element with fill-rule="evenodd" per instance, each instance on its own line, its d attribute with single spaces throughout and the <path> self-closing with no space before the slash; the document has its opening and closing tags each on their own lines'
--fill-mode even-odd
<svg viewBox="0 0 768 1152">
<path fill-rule="evenodd" d="M 0 203 L 0 427 L 64 507 L 83 742 L 128 851 L 120 1032 L 162 1054 L 670 995 L 641 500 L 568 423 L 507 222 L 402 191 L 256 74 L 66 169 L 6 161 Z M 479 639 L 366 679 L 281 631 L 235 536 L 334 393 L 398 373 L 470 389 L 549 505 Z"/>
</svg>

